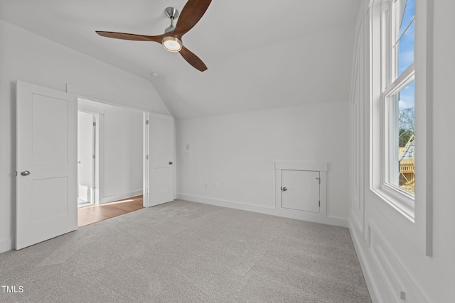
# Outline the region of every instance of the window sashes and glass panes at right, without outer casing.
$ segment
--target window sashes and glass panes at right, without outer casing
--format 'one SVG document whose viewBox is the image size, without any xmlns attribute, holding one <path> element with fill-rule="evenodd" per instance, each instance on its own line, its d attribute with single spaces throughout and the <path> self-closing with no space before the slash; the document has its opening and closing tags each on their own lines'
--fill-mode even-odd
<svg viewBox="0 0 455 303">
<path fill-rule="evenodd" d="M 415 0 L 394 0 L 384 11 L 382 43 L 382 189 L 408 207 L 415 191 Z"/>
</svg>

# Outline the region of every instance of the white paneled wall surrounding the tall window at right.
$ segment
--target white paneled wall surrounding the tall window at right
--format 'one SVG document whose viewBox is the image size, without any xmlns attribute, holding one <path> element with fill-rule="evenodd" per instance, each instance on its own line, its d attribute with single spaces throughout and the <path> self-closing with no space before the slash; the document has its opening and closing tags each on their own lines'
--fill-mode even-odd
<svg viewBox="0 0 455 303">
<path fill-rule="evenodd" d="M 368 2 L 360 11 L 359 21 L 363 21 L 365 28 L 365 45 L 359 45 L 360 53 L 366 55 L 365 60 L 360 57 L 368 71 Z M 422 9 L 424 1 L 416 1 Z M 353 242 L 358 249 L 358 255 L 365 278 L 369 284 L 370 294 L 375 302 L 454 302 L 455 298 L 455 202 L 452 191 L 455 162 L 451 160 L 451 151 L 455 150 L 453 130 L 455 129 L 455 102 L 454 99 L 454 70 L 455 40 L 453 37 L 452 12 L 455 11 L 454 1 L 431 1 L 434 5 L 434 28 L 429 28 L 429 35 L 433 37 L 434 53 L 429 58 L 433 62 L 433 79 L 428 75 L 427 81 L 433 82 L 433 95 L 427 99 L 432 102 L 433 131 L 429 136 L 433 139 L 433 207 L 429 215 L 433 216 L 432 256 L 425 255 L 424 250 L 409 238 L 405 230 L 400 229 L 402 224 L 398 220 L 397 211 L 385 204 L 370 190 L 370 132 L 368 111 L 368 72 L 364 82 L 358 82 L 365 89 L 364 111 L 357 116 L 358 128 L 365 129 L 365 141 L 359 141 L 360 154 L 365 161 L 360 166 L 353 165 L 353 173 L 363 174 L 364 182 L 360 190 L 360 203 L 363 204 L 359 218 L 350 213 L 350 231 Z M 417 7 L 416 6 L 416 7 Z M 431 16 L 431 13 L 430 13 Z M 417 18 L 417 23 L 419 19 Z M 360 23 L 359 23 L 360 24 Z M 420 37 L 422 38 L 422 37 Z M 417 33 L 416 40 L 419 39 Z M 431 44 L 430 44 L 431 45 Z M 422 64 L 416 62 L 416 74 L 422 70 Z M 417 77 L 417 76 L 416 76 Z M 417 84 L 417 81 L 416 81 Z M 354 116 L 355 119 L 355 116 Z M 418 121 L 417 121 L 418 123 Z M 355 131 L 355 126 L 353 128 Z M 417 151 L 418 153 L 418 151 Z M 354 164 L 354 163 L 353 163 Z M 418 165 L 418 163 L 416 163 Z M 418 172 L 417 172 L 418 173 Z M 417 184 L 425 186 L 425 184 Z M 418 193 L 416 191 L 416 193 Z M 364 224 L 358 224 L 358 221 Z M 418 218 L 417 218 L 418 220 Z M 400 292 L 406 293 L 406 301 L 400 299 Z"/>
</svg>

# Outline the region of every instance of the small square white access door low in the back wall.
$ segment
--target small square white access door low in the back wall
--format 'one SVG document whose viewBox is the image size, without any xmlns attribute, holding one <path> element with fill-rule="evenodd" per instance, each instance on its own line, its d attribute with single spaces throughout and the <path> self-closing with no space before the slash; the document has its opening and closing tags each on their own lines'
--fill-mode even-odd
<svg viewBox="0 0 455 303">
<path fill-rule="evenodd" d="M 319 213 L 319 172 L 282 170 L 282 207 Z"/>
</svg>

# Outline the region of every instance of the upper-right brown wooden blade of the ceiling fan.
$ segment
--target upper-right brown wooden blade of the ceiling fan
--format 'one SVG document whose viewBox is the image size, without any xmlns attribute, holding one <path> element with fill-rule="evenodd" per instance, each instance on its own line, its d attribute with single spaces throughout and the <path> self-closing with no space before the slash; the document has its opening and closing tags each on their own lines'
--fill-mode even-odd
<svg viewBox="0 0 455 303">
<path fill-rule="evenodd" d="M 202 18 L 212 0 L 188 0 L 183 6 L 180 17 L 178 17 L 176 29 L 173 35 L 185 35 Z"/>
</svg>

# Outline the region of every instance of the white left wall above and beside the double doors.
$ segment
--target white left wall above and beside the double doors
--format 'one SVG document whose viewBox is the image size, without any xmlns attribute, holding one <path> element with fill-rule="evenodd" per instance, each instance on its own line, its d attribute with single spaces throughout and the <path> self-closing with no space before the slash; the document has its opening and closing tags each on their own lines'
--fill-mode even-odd
<svg viewBox="0 0 455 303">
<path fill-rule="evenodd" d="M 2 20 L 0 45 L 0 251 L 5 251 L 15 234 L 16 80 L 63 92 L 66 84 L 77 84 L 114 95 L 126 106 L 169 112 L 146 80 Z"/>
</svg>

